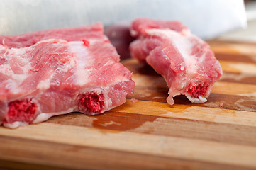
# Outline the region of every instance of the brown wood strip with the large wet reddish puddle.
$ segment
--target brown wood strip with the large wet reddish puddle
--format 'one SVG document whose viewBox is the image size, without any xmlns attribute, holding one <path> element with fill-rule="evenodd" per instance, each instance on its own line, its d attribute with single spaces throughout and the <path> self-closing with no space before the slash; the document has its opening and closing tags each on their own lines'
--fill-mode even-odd
<svg viewBox="0 0 256 170">
<path fill-rule="evenodd" d="M 50 118 L 47 122 L 256 146 L 256 127 L 253 126 L 113 111 L 93 118 L 91 122 L 91 116 L 72 113 Z"/>
</svg>

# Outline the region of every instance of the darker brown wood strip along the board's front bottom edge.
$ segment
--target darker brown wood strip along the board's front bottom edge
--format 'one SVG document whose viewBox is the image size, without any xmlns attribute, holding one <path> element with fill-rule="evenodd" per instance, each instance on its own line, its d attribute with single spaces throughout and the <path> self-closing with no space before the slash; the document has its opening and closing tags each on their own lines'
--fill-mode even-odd
<svg viewBox="0 0 256 170">
<path fill-rule="evenodd" d="M 41 142 L 16 137 L 0 137 L 0 152 L 10 161 L 0 159 L 0 169 L 250 169 L 245 166 L 196 162 L 189 159 L 156 157 L 148 154 L 111 149 Z M 10 145 L 12 147 L 10 147 Z M 54 152 L 53 149 L 54 148 Z M 18 157 L 18 161 L 12 161 Z M 22 159 L 22 160 L 21 160 Z M 145 162 L 147 162 L 145 164 Z M 50 166 L 52 165 L 52 166 Z"/>
</svg>

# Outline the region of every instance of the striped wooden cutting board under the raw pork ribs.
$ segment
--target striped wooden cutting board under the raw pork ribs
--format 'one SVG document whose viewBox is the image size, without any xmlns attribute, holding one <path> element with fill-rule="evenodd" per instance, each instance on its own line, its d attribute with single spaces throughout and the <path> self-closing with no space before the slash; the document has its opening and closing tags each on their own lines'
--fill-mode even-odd
<svg viewBox="0 0 256 170">
<path fill-rule="evenodd" d="M 136 86 L 125 104 L 1 127 L 0 169 L 256 169 L 256 44 L 209 43 L 224 74 L 207 103 L 169 106 L 164 79 L 126 60 Z"/>
</svg>

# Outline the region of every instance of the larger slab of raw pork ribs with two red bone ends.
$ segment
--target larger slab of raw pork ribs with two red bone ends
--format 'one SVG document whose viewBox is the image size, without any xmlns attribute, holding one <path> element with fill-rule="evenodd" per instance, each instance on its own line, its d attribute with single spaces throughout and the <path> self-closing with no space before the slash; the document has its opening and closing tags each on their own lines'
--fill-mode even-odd
<svg viewBox="0 0 256 170">
<path fill-rule="evenodd" d="M 66 30 L 54 30 L 60 33 L 57 39 L 45 31 L 52 39 L 30 33 L 0 45 L 0 124 L 16 128 L 72 111 L 95 115 L 133 94 L 131 73 L 118 62 L 101 24 L 88 26 L 80 37 Z M 30 38 L 43 40 L 27 43 Z"/>
</svg>

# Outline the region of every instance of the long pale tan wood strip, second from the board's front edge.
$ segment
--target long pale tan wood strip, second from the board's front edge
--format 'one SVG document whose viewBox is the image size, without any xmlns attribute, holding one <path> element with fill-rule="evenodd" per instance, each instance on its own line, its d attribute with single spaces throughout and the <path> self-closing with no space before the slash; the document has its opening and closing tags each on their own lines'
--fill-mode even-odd
<svg viewBox="0 0 256 170">
<path fill-rule="evenodd" d="M 52 123 L 40 123 L 16 130 L 1 128 L 0 135 L 256 168 L 256 147 L 245 145 Z M 4 155 L 0 154 L 0 157 L 3 159 Z"/>
</svg>

